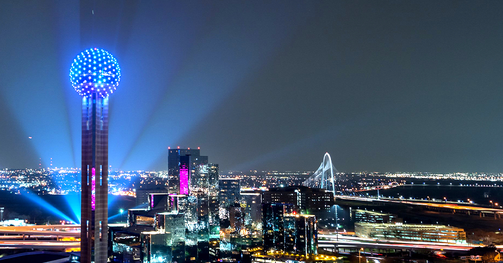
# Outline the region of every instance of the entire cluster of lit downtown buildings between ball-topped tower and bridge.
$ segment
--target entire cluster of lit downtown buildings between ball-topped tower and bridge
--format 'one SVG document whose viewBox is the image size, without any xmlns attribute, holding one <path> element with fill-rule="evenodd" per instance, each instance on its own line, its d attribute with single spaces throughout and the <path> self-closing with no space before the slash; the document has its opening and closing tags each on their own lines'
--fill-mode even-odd
<svg viewBox="0 0 503 263">
<path fill-rule="evenodd" d="M 330 192 L 241 191 L 239 179 L 219 178 L 218 165 L 200 149 L 170 149 L 169 174 L 166 187 L 137 192 L 140 208 L 128 211 L 126 226 L 110 227 L 111 261 L 251 262 L 285 253 L 309 261 L 317 254 L 316 216 L 306 215 L 305 205 L 329 209 Z"/>
</svg>

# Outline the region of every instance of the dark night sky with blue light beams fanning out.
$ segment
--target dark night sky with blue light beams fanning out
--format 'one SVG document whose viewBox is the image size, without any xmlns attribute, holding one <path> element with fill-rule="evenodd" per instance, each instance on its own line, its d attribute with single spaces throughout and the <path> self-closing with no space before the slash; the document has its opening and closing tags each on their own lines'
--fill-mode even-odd
<svg viewBox="0 0 503 263">
<path fill-rule="evenodd" d="M 99 47 L 113 169 L 503 172 L 502 44 L 501 1 L 1 1 L 0 168 L 80 166 Z"/>
</svg>

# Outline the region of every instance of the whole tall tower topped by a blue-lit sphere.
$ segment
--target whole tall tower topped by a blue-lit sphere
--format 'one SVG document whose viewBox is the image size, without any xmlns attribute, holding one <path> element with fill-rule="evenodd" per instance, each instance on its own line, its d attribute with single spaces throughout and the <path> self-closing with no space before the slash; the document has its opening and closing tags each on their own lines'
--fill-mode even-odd
<svg viewBox="0 0 503 263">
<path fill-rule="evenodd" d="M 71 84 L 82 96 L 82 263 L 107 262 L 108 96 L 117 89 L 120 77 L 115 57 L 99 48 L 80 52 L 70 68 Z"/>
</svg>

